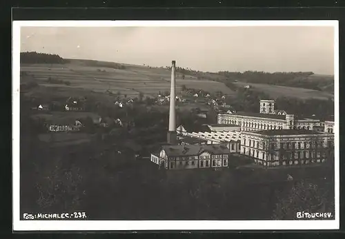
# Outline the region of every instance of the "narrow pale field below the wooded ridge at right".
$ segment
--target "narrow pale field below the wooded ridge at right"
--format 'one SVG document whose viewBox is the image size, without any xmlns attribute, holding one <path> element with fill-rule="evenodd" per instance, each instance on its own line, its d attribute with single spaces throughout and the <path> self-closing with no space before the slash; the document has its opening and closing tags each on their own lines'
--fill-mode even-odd
<svg viewBox="0 0 345 239">
<path fill-rule="evenodd" d="M 265 92 L 270 95 L 271 98 L 277 98 L 279 96 L 288 96 L 293 98 L 317 98 L 327 100 L 328 98 L 334 98 L 334 95 L 329 92 L 319 92 L 317 90 L 309 90 L 298 87 L 287 87 L 280 85 L 268 85 L 259 83 L 244 83 L 236 82 L 235 84 L 240 86 L 250 85 L 250 89 Z"/>
</svg>

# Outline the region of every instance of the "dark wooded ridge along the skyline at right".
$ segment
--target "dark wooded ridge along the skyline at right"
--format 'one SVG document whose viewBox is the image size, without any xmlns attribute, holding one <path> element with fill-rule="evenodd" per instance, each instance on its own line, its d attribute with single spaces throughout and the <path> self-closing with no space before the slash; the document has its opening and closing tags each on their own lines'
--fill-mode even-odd
<svg viewBox="0 0 345 239">
<path fill-rule="evenodd" d="M 333 76 L 315 76 L 314 72 L 218 72 L 226 76 L 228 81 L 243 81 L 246 83 L 262 83 L 282 85 L 288 87 L 301 87 L 311 90 L 334 92 Z"/>
</svg>

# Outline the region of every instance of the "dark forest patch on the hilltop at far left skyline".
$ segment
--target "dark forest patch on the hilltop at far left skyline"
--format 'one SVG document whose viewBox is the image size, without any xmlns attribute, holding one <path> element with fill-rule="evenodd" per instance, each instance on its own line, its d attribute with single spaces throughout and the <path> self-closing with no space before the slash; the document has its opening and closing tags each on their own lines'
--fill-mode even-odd
<svg viewBox="0 0 345 239">
<path fill-rule="evenodd" d="M 26 64 L 63 64 L 66 61 L 57 54 L 46 54 L 39 52 L 21 52 L 20 62 Z"/>
</svg>

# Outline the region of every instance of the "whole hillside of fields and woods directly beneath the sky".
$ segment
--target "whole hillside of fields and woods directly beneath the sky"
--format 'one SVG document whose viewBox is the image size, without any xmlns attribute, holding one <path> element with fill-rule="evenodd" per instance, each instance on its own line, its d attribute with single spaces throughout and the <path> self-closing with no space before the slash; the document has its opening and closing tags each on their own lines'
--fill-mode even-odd
<svg viewBox="0 0 345 239">
<path fill-rule="evenodd" d="M 93 92 L 136 97 L 155 97 L 170 90 L 170 67 L 130 65 L 85 59 L 62 59 L 55 54 L 21 52 L 21 81 L 35 81 L 45 87 L 67 90 L 83 88 Z M 30 79 L 30 80 L 29 80 Z M 334 76 L 313 72 L 200 72 L 177 67 L 177 92 L 187 88 L 223 92 L 234 96 L 238 87 L 250 85 L 271 98 L 299 99 L 334 97 Z M 177 93 L 179 94 L 179 93 Z"/>
</svg>

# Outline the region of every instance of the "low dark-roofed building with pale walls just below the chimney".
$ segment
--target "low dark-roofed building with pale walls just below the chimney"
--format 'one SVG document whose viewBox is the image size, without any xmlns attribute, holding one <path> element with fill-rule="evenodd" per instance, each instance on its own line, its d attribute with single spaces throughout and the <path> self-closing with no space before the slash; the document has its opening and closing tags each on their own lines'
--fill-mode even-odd
<svg viewBox="0 0 345 239">
<path fill-rule="evenodd" d="M 165 169 L 228 167 L 226 145 L 164 145 L 151 154 L 151 161 Z"/>
</svg>

